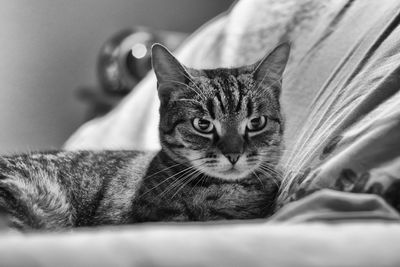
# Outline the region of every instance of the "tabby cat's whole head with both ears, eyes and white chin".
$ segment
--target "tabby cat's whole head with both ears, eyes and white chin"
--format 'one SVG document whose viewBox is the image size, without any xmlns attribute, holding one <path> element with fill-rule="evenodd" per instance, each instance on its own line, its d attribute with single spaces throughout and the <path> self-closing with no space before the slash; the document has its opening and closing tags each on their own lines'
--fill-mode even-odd
<svg viewBox="0 0 400 267">
<path fill-rule="evenodd" d="M 283 121 L 279 96 L 289 46 L 241 68 L 194 70 L 153 47 L 160 139 L 176 161 L 226 180 L 276 165 Z"/>
</svg>

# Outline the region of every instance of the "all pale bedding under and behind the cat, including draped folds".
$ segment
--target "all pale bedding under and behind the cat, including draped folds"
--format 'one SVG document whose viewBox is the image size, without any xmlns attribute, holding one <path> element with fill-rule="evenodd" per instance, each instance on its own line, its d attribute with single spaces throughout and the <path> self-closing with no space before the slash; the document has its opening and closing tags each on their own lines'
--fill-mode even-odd
<svg viewBox="0 0 400 267">
<path fill-rule="evenodd" d="M 0 239 L 1 266 L 400 266 L 400 3 L 241 0 L 177 51 L 196 68 L 290 41 L 277 213 Z M 240 57 L 235 55 L 241 54 Z M 153 74 L 66 149 L 158 149 Z"/>
</svg>

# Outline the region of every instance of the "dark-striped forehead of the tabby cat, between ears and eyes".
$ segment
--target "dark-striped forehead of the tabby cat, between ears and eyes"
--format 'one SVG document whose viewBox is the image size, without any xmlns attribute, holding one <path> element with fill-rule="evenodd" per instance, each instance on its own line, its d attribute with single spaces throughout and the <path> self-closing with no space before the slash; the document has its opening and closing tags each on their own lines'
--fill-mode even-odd
<svg viewBox="0 0 400 267">
<path fill-rule="evenodd" d="M 182 98 L 198 104 L 194 113 L 198 110 L 233 123 L 260 114 L 275 116 L 279 111 L 278 102 L 257 83 L 251 69 L 193 70 L 190 76 Z"/>
</svg>

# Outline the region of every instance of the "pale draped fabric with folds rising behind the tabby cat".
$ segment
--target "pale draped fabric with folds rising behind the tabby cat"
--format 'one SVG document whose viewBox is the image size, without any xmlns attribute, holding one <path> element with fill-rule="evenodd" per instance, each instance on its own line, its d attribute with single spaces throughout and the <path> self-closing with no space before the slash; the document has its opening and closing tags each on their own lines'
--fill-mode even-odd
<svg viewBox="0 0 400 267">
<path fill-rule="evenodd" d="M 278 207 L 334 189 L 373 193 L 400 209 L 399 8 L 396 0 L 239 1 L 178 51 L 188 66 L 229 67 L 292 43 L 283 78 L 286 150 Z M 66 148 L 156 149 L 158 105 L 149 74 Z"/>
</svg>

